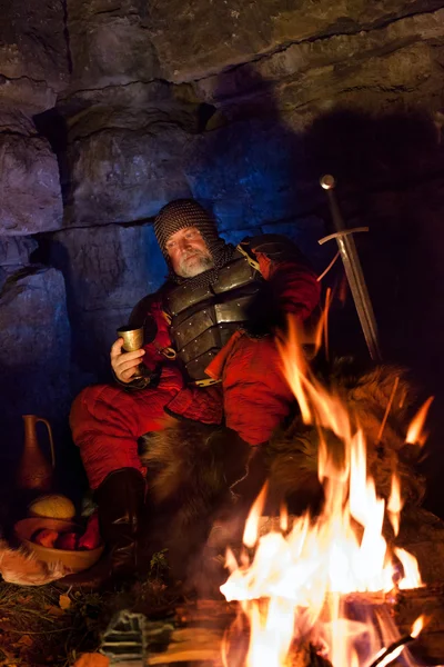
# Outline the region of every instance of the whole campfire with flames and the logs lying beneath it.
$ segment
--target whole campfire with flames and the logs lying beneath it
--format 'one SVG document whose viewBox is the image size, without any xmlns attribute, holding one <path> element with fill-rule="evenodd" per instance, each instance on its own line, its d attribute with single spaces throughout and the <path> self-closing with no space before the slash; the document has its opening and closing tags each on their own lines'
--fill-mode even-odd
<svg viewBox="0 0 444 667">
<path fill-rule="evenodd" d="M 436 637 L 434 644 L 433 634 L 442 637 L 443 587 L 441 583 L 431 586 L 426 556 L 420 556 L 427 585 L 423 583 L 417 560 L 410 552 L 416 551 L 417 542 L 404 541 L 412 507 L 405 508 L 406 528 L 401 530 L 406 496 L 400 481 L 405 479 L 400 474 L 401 456 L 396 471 L 396 447 L 415 450 L 424 442 L 431 399 L 405 428 L 405 438 L 389 448 L 391 417 L 405 400 L 402 379 L 390 375 L 386 406 L 379 404 L 381 420 L 379 417 L 372 428 L 365 427 L 360 424 L 365 418 L 362 406 L 353 407 L 359 401 L 344 401 L 344 391 L 350 396 L 344 385 L 327 389 L 325 381 L 317 380 L 299 336 L 290 322 L 289 336 L 279 347 L 303 428 L 317 431 L 322 508 L 316 505 L 316 509 L 294 516 L 283 506 L 275 512 L 280 516 L 263 516 L 270 506 L 269 485 L 272 497 L 271 471 L 245 521 L 243 544 L 231 536 L 234 542 L 225 556 L 230 576 L 221 586 L 225 600 L 212 595 L 184 600 L 174 605 L 174 618 L 160 620 L 123 609 L 103 636 L 101 650 L 111 664 L 131 659 L 140 665 L 384 667 L 396 661 L 415 667 L 420 663 L 408 650 L 413 647 L 421 649 L 425 660 L 431 658 L 427 665 L 441 658 L 442 639 Z M 383 447 L 389 460 L 393 458 L 391 481 L 385 470 L 382 481 L 380 470 L 374 475 L 376 481 L 369 474 L 369 469 L 375 471 L 375 461 L 382 460 L 374 449 Z M 421 517 L 426 522 L 427 512 Z M 265 532 L 270 525 L 272 529 Z M 416 524 L 412 525 L 416 530 Z M 444 540 L 441 522 L 432 539 L 435 535 Z M 402 548 L 405 544 L 408 548 Z M 430 538 L 424 544 L 431 550 Z M 219 545 L 216 549 L 210 552 L 219 555 Z M 213 560 L 219 564 L 219 558 Z M 410 647 L 416 638 L 417 645 Z"/>
</svg>

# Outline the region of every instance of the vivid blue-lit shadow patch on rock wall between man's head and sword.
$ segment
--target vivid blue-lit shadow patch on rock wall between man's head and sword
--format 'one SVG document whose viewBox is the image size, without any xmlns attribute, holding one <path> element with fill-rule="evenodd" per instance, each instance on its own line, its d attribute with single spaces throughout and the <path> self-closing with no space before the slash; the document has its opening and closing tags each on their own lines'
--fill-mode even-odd
<svg viewBox="0 0 444 667">
<path fill-rule="evenodd" d="M 229 241 L 284 233 L 322 266 L 323 195 L 306 178 L 304 138 L 282 120 L 271 83 L 248 67 L 230 73 L 219 78 L 219 110 L 190 158 L 193 195 L 213 209 Z"/>
</svg>

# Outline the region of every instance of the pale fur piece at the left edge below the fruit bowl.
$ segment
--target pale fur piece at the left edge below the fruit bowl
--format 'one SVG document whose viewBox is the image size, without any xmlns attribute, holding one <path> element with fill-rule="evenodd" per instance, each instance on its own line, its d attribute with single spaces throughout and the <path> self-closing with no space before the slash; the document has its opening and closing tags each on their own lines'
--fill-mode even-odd
<svg viewBox="0 0 444 667">
<path fill-rule="evenodd" d="M 0 539 L 0 575 L 8 584 L 43 586 L 65 574 L 61 564 L 49 566 L 23 549 L 11 549 Z"/>
</svg>

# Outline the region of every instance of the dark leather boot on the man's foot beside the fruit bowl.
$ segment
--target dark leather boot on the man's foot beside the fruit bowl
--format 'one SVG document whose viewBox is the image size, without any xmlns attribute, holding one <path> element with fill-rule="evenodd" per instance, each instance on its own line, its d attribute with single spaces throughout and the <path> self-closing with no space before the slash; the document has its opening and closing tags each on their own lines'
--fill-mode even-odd
<svg viewBox="0 0 444 667">
<path fill-rule="evenodd" d="M 138 541 L 145 499 L 145 480 L 135 468 L 114 470 L 94 492 L 105 552 L 88 570 L 68 575 L 59 587 L 100 588 L 138 571 Z"/>
</svg>

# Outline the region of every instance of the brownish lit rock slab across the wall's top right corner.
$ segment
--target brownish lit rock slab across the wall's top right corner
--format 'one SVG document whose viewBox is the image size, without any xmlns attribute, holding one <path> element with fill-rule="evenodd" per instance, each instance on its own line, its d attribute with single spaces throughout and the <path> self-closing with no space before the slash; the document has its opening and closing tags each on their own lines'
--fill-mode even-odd
<svg viewBox="0 0 444 667">
<path fill-rule="evenodd" d="M 291 43 L 233 70 L 195 82 L 208 102 L 231 116 L 240 103 L 272 90 L 295 129 L 336 108 L 393 111 L 442 106 L 444 10 L 384 21 L 373 30 Z"/>
</svg>

